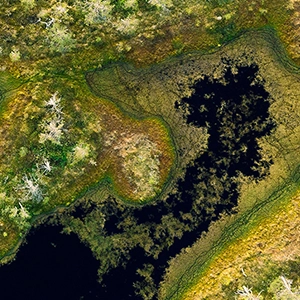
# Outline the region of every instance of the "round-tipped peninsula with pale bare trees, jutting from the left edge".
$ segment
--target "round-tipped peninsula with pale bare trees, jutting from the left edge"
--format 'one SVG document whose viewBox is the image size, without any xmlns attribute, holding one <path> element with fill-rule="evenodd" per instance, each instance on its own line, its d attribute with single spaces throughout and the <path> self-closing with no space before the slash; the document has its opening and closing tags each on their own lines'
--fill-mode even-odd
<svg viewBox="0 0 300 300">
<path fill-rule="evenodd" d="M 159 119 L 127 116 L 66 81 L 34 79 L 1 104 L 2 255 L 40 215 L 92 185 L 111 182 L 124 201 L 140 204 L 168 179 L 175 155 Z"/>
</svg>

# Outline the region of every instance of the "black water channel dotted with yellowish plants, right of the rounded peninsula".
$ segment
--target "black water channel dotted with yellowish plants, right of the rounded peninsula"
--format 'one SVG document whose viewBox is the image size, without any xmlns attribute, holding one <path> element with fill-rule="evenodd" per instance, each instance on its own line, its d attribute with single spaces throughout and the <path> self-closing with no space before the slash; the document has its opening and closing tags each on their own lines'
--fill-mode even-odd
<svg viewBox="0 0 300 300">
<path fill-rule="evenodd" d="M 191 87 L 194 91 L 191 97 L 175 104 L 178 109 L 188 111 L 188 123 L 208 126 L 210 134 L 208 150 L 188 166 L 185 177 L 177 183 L 177 193 L 166 201 L 141 208 L 122 207 L 120 210 L 116 202 L 108 204 L 112 212 L 105 223 L 108 235 L 147 224 L 151 232 L 149 238 L 156 244 L 163 244 L 163 238 L 156 239 L 155 233 L 157 225 L 168 214 L 180 221 L 185 228 L 184 234 L 173 237 L 172 245 L 163 247 L 157 259 L 146 253 L 131 255 L 134 264 L 130 259 L 125 269 L 117 268 L 111 274 L 135 274 L 134 271 L 144 264 L 151 264 L 154 266 L 152 279 L 158 287 L 169 259 L 192 245 L 220 213 L 230 213 L 237 205 L 239 184 L 236 176 L 241 173 L 260 180 L 268 174 L 272 160 L 262 159 L 256 139 L 275 128 L 268 112 L 272 99 L 263 81 L 257 79 L 257 65 L 236 66 L 236 69 L 233 73 L 228 65 L 222 82 L 204 77 Z M 133 215 L 135 222 L 122 226 L 122 215 Z M 109 282 L 109 278 L 112 278 L 109 274 L 104 276 L 104 283 Z M 125 286 L 120 288 L 128 291 Z M 132 293 L 133 290 L 129 294 Z M 131 296 L 124 293 L 121 298 L 130 299 Z"/>
</svg>

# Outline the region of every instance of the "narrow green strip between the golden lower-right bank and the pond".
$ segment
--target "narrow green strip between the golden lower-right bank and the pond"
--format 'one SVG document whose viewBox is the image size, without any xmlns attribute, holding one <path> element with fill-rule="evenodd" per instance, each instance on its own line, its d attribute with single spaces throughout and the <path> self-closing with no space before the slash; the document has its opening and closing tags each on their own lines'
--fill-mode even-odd
<svg viewBox="0 0 300 300">
<path fill-rule="evenodd" d="M 270 37 L 270 35 L 268 36 Z M 275 45 L 277 43 L 279 43 L 278 40 L 276 40 Z M 268 44 L 271 44 L 269 40 Z M 282 50 L 282 47 L 280 48 Z M 297 82 L 297 78 L 299 78 L 297 75 L 300 73 L 299 67 L 291 63 L 291 61 L 283 55 L 283 51 L 275 51 L 276 49 L 276 47 L 272 47 L 272 55 L 276 55 L 274 60 L 276 60 L 276 62 L 278 61 L 280 68 L 286 67 L 290 76 L 295 76 L 295 82 Z M 281 57 L 280 55 L 283 56 Z M 270 143 L 271 142 L 272 140 L 270 140 Z M 289 145 L 288 148 L 290 147 L 292 146 Z M 295 148 L 293 149 L 296 151 Z M 172 272 L 173 274 L 166 275 L 165 282 L 161 286 L 160 299 L 183 299 L 185 293 L 196 285 L 199 278 L 201 278 L 201 274 L 204 274 L 210 263 L 214 258 L 218 257 L 218 254 L 221 253 L 222 249 L 226 248 L 226 245 L 231 244 L 239 237 L 245 236 L 252 228 L 259 225 L 259 220 L 263 220 L 266 215 L 275 215 L 281 205 L 289 203 L 299 190 L 300 166 L 298 163 L 297 160 L 286 162 L 289 166 L 287 168 L 290 170 L 287 173 L 288 177 L 286 178 L 285 174 L 282 180 L 278 180 L 278 186 L 276 186 L 273 191 L 270 191 L 268 197 L 261 200 L 257 199 L 253 206 L 246 210 L 243 209 L 242 212 L 236 216 L 224 217 L 222 221 L 216 222 L 211 226 L 207 235 L 199 239 L 198 242 L 196 242 L 193 247 L 187 249 L 186 252 L 183 251 L 173 262 L 171 261 L 171 268 L 167 272 L 169 274 Z M 249 223 L 251 226 L 248 225 Z M 195 255 L 195 253 L 199 254 Z M 182 261 L 183 264 L 180 264 L 180 261 Z"/>
</svg>

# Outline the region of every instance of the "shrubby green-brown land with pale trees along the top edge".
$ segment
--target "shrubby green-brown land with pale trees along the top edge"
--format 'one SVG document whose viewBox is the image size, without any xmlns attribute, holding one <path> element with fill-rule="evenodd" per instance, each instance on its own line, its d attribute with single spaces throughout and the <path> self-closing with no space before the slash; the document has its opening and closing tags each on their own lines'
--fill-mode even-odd
<svg viewBox="0 0 300 300">
<path fill-rule="evenodd" d="M 23 78 L 71 74 L 109 60 L 145 65 L 183 51 L 214 51 L 245 30 L 272 26 L 298 60 L 298 10 L 298 1 L 283 0 L 5 0 L 0 57 Z"/>
</svg>

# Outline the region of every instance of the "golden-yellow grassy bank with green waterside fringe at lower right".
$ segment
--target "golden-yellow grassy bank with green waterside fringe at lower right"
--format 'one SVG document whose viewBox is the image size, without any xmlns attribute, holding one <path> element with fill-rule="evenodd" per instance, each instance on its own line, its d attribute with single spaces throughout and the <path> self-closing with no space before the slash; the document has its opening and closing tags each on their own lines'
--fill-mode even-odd
<svg viewBox="0 0 300 300">
<path fill-rule="evenodd" d="M 280 186 L 251 210 L 223 216 L 178 255 L 160 288 L 160 299 L 225 300 L 222 287 L 241 279 L 242 269 L 250 278 L 257 277 L 253 266 L 263 268 L 268 261 L 299 256 L 298 172 L 299 168 L 295 181 Z"/>
</svg>

